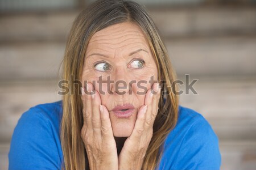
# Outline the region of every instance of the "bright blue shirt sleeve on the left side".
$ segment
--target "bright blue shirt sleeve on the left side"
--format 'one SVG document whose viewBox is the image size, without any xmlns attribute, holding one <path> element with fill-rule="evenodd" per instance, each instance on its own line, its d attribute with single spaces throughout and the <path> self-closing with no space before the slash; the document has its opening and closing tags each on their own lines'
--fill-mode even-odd
<svg viewBox="0 0 256 170">
<path fill-rule="evenodd" d="M 9 170 L 60 169 L 61 159 L 51 121 L 31 108 L 16 125 L 9 151 Z"/>
</svg>

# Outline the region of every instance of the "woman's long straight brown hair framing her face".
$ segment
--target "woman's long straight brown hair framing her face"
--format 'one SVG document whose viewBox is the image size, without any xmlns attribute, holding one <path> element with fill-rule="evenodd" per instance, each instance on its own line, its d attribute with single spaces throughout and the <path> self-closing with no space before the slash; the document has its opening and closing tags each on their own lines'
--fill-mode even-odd
<svg viewBox="0 0 256 170">
<path fill-rule="evenodd" d="M 81 11 L 69 32 L 62 62 L 62 79 L 69 80 L 72 75 L 75 80 L 81 80 L 86 46 L 90 38 L 101 29 L 122 22 L 133 22 L 142 29 L 156 62 L 162 91 L 166 92 L 159 100 L 153 136 L 142 165 L 142 169 L 153 170 L 159 165 L 164 139 L 176 125 L 179 99 L 174 93 L 177 91 L 176 87 L 172 86 L 172 82 L 176 80 L 175 71 L 148 12 L 136 2 L 121 0 L 96 1 Z M 60 140 L 63 150 L 61 167 L 65 170 L 89 169 L 85 146 L 80 135 L 84 121 L 80 87 L 76 85 L 76 82 L 69 82 L 69 92 L 73 94 L 63 96 Z"/>
</svg>

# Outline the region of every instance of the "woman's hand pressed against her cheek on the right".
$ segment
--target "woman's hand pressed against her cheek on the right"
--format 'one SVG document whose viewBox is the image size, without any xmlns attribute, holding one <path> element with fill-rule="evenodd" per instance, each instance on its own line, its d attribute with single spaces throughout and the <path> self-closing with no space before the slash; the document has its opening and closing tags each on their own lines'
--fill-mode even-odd
<svg viewBox="0 0 256 170">
<path fill-rule="evenodd" d="M 147 147 L 153 135 L 153 124 L 158 113 L 160 88 L 158 83 L 153 84 L 154 94 L 147 91 L 144 105 L 139 109 L 133 132 L 126 139 L 119 154 L 119 170 L 141 169 Z"/>
</svg>

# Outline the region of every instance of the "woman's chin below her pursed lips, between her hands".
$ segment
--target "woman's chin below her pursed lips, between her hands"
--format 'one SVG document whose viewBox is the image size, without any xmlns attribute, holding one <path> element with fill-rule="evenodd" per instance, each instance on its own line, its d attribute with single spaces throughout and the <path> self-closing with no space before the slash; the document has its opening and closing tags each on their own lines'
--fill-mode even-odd
<svg viewBox="0 0 256 170">
<path fill-rule="evenodd" d="M 114 137 L 130 137 L 133 132 L 135 122 L 113 122 L 112 129 Z"/>
</svg>

